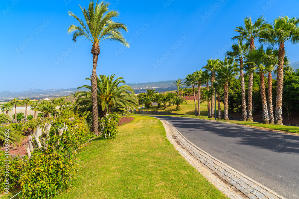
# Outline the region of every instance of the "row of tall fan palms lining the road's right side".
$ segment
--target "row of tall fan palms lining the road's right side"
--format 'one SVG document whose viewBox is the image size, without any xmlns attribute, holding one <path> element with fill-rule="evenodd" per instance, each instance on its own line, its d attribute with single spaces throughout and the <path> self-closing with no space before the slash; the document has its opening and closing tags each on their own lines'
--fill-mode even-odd
<svg viewBox="0 0 299 199">
<path fill-rule="evenodd" d="M 282 124 L 282 91 L 283 91 L 283 72 L 291 70 L 289 67 L 289 59 L 285 54 L 284 44 L 290 41 L 292 44 L 299 42 L 299 18 L 288 18 L 287 16 L 278 17 L 273 23 L 265 21 L 263 16 L 259 17 L 254 23 L 250 17 L 245 18 L 244 26 L 236 28 L 237 36 L 233 37 L 237 43 L 232 45 L 232 51 L 226 53 L 224 61 L 219 59 L 209 59 L 204 69 L 205 71 L 196 71 L 187 75 L 186 85 L 192 86 L 196 115 L 199 114 L 200 85 L 206 83 L 208 99 L 208 116 L 213 117 L 214 97 L 217 95 L 218 109 L 220 118 L 220 97 L 224 94 L 224 119 L 228 119 L 228 93 L 229 82 L 240 73 L 242 93 L 242 120 L 252 121 L 252 87 L 253 74 L 256 72 L 260 76 L 260 91 L 263 109 L 264 124 Z M 255 47 L 255 42 L 260 43 L 259 47 Z M 269 46 L 264 49 L 263 44 Z M 273 46 L 279 45 L 278 49 Z M 239 66 L 239 68 L 238 68 Z M 248 75 L 248 96 L 246 104 L 245 96 L 245 75 Z M 271 72 L 277 73 L 277 95 L 275 115 L 273 111 L 272 99 L 272 75 Z M 267 75 L 268 83 L 268 102 L 265 90 L 265 75 Z M 211 89 L 209 94 L 209 82 Z M 198 107 L 196 107 L 195 88 L 198 87 Z M 216 89 L 215 89 L 216 87 Z M 210 95 L 210 97 L 208 97 Z M 211 107 L 210 103 L 211 101 Z"/>
</svg>

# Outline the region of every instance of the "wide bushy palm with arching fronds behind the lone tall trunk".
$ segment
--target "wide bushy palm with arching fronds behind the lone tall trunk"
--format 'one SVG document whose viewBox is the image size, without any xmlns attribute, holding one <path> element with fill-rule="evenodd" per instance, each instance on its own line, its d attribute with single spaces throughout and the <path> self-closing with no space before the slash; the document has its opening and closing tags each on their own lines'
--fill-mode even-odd
<svg viewBox="0 0 299 199">
<path fill-rule="evenodd" d="M 120 115 L 130 115 L 128 109 L 138 110 L 138 100 L 134 95 L 134 90 L 125 84 L 122 77 L 115 78 L 115 75 L 106 76 L 100 75 L 97 80 L 97 107 L 98 116 L 97 118 L 104 117 L 107 112 L 117 112 Z M 90 78 L 86 78 L 90 81 Z M 87 88 L 89 91 L 80 91 L 75 94 L 77 100 L 75 101 L 74 112 L 78 112 L 81 115 L 90 116 L 89 112 L 92 111 L 92 94 L 91 86 L 83 85 L 80 88 Z M 91 122 L 92 118 L 87 118 L 88 122 Z M 92 124 L 94 124 L 92 122 Z"/>
</svg>

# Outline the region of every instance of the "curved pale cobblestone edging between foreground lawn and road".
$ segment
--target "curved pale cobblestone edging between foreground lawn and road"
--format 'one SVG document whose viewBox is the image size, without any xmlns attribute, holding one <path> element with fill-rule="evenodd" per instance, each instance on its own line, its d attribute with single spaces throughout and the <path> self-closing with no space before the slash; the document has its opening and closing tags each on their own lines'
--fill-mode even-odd
<svg viewBox="0 0 299 199">
<path fill-rule="evenodd" d="M 162 121 L 162 120 L 161 120 Z M 181 144 L 198 161 L 206 165 L 225 181 L 237 188 L 250 199 L 286 199 L 271 189 L 261 185 L 253 179 L 245 176 L 225 163 L 209 155 L 202 149 L 194 146 L 181 133 L 167 121 L 163 121 L 170 128 L 176 141 Z"/>
</svg>

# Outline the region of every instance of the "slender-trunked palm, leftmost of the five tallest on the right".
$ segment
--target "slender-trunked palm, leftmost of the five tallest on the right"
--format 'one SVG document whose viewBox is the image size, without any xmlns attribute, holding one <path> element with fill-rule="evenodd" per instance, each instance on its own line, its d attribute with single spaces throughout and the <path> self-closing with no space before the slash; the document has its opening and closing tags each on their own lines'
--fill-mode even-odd
<svg viewBox="0 0 299 199">
<path fill-rule="evenodd" d="M 229 58 L 234 58 L 235 61 L 239 62 L 240 66 L 240 80 L 241 80 L 241 93 L 242 93 L 242 121 L 247 119 L 246 110 L 246 94 L 245 94 L 245 81 L 244 81 L 244 71 L 243 71 L 243 61 L 248 53 L 249 44 L 243 44 L 242 40 L 238 41 L 238 44 L 232 45 L 232 51 L 226 53 Z"/>
</svg>

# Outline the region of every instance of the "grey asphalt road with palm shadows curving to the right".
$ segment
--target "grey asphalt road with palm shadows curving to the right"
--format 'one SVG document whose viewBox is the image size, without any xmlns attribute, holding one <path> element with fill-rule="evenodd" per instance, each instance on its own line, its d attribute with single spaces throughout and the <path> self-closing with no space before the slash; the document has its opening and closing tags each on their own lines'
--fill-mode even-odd
<svg viewBox="0 0 299 199">
<path fill-rule="evenodd" d="M 239 172 L 286 198 L 299 198 L 299 136 L 193 118 L 155 117 Z"/>
</svg>

